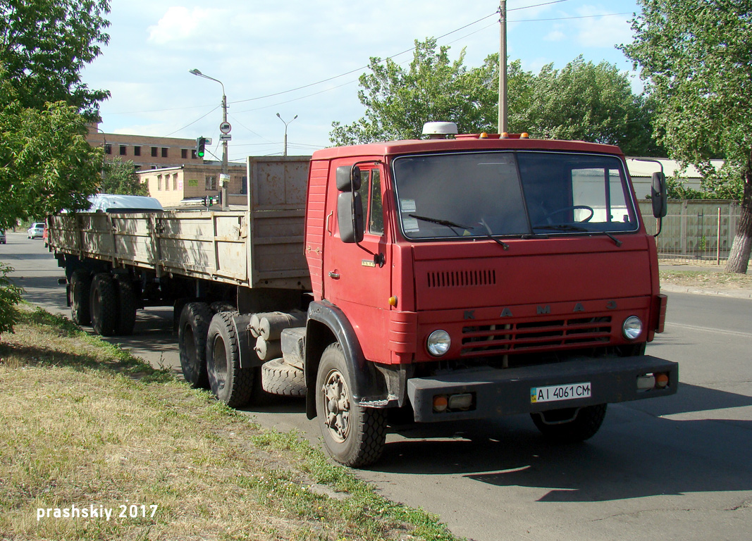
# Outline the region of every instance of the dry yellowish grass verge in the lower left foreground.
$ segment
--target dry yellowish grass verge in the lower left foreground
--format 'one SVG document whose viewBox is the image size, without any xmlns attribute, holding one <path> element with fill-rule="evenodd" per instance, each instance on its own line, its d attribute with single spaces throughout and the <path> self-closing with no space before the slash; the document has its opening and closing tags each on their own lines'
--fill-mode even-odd
<svg viewBox="0 0 752 541">
<path fill-rule="evenodd" d="M 453 539 L 296 434 L 262 431 L 40 310 L 2 336 L 0 388 L 2 539 Z M 92 505 L 110 520 L 38 519 Z"/>
</svg>

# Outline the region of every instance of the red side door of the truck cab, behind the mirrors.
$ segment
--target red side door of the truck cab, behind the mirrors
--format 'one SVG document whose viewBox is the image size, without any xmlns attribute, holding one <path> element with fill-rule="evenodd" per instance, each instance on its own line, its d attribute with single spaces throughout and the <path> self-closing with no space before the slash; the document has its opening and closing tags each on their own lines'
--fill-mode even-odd
<svg viewBox="0 0 752 541">
<path fill-rule="evenodd" d="M 336 168 L 351 165 L 333 162 Z M 365 358 L 388 362 L 387 319 L 391 296 L 391 250 L 384 219 L 384 168 L 380 163 L 359 163 L 364 234 L 359 243 L 344 243 L 337 221 L 338 192 L 330 183 L 327 196 L 323 298 L 347 315 L 358 334 Z"/>
</svg>

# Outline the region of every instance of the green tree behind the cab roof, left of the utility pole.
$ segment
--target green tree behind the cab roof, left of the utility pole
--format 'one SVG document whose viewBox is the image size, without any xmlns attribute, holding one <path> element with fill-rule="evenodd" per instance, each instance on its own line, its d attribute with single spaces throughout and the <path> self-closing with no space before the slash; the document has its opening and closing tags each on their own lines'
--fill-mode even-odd
<svg viewBox="0 0 752 541">
<path fill-rule="evenodd" d="M 392 59 L 371 58 L 371 73 L 360 76 L 358 98 L 365 116 L 351 125 L 332 123 L 333 144 L 359 144 L 419 138 L 423 123 L 453 120 L 465 133 L 490 125 L 496 117 L 496 98 L 487 83 L 484 68 L 465 68 L 465 51 L 455 61 L 450 47 L 436 46 L 428 38 L 415 42 L 413 60 L 407 70 Z M 495 121 L 493 121 L 495 123 Z"/>
</svg>

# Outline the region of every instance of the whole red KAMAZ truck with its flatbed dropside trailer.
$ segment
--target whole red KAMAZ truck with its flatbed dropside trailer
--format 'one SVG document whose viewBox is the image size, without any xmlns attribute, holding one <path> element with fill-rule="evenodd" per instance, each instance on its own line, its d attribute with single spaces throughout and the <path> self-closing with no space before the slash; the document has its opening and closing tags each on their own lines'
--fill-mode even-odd
<svg viewBox="0 0 752 541">
<path fill-rule="evenodd" d="M 251 157 L 242 211 L 50 216 L 71 316 L 129 334 L 173 306 L 188 382 L 232 407 L 305 396 L 353 467 L 378 461 L 390 410 L 529 413 L 578 441 L 608 403 L 674 394 L 678 364 L 645 353 L 666 297 L 619 148 L 430 130 Z"/>
</svg>

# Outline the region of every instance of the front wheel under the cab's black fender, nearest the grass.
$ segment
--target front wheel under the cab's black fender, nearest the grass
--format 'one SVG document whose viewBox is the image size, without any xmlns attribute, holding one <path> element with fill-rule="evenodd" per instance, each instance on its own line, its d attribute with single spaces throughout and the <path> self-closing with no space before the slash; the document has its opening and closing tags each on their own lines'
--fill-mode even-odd
<svg viewBox="0 0 752 541">
<path fill-rule="evenodd" d="M 339 343 L 324 349 L 316 377 L 316 413 L 324 447 L 340 464 L 365 467 L 381 458 L 387 440 L 385 410 L 350 400 L 350 367 Z"/>
</svg>

